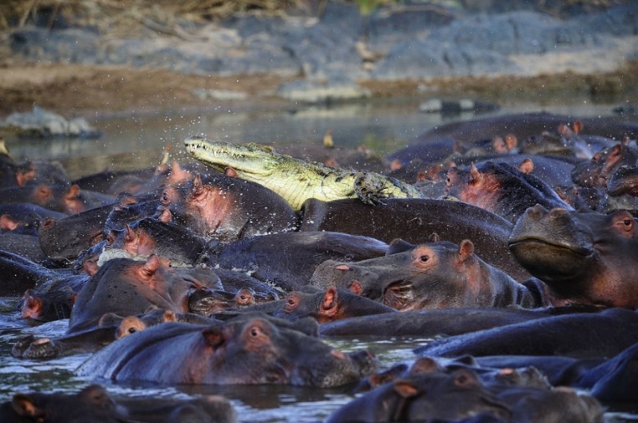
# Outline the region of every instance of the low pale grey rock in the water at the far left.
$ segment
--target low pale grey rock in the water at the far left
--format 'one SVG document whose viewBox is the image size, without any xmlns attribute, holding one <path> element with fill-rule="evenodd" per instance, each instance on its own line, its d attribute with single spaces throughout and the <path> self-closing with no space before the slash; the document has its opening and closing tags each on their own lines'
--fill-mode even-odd
<svg viewBox="0 0 638 423">
<path fill-rule="evenodd" d="M 21 137 L 84 137 L 97 138 L 101 133 L 84 117 L 65 119 L 38 106 L 33 112 L 11 113 L 0 120 L 0 128 L 16 132 Z"/>
</svg>

